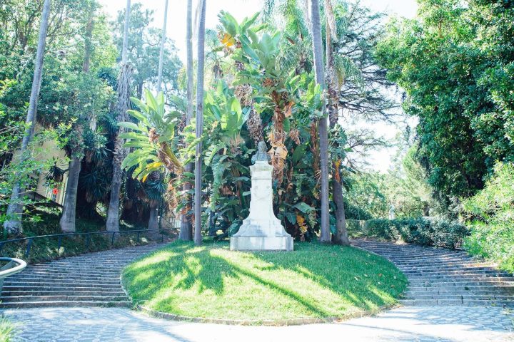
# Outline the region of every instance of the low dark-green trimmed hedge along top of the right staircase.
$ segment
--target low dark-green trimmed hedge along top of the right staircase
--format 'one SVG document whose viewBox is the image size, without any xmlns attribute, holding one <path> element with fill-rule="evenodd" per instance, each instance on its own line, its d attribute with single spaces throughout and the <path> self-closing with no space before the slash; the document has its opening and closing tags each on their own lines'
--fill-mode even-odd
<svg viewBox="0 0 514 342">
<path fill-rule="evenodd" d="M 403 241 L 448 248 L 462 247 L 468 229 L 446 219 L 371 219 L 366 222 L 366 235 L 377 239 Z"/>
</svg>

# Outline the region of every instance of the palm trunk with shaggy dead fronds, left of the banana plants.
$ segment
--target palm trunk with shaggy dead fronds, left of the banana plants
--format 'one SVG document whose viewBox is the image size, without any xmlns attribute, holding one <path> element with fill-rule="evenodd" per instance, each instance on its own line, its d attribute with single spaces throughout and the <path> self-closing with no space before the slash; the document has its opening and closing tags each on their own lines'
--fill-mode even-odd
<svg viewBox="0 0 514 342">
<path fill-rule="evenodd" d="M 118 77 L 117 93 L 118 103 L 116 112 L 118 113 L 116 120 L 119 123 L 127 121 L 127 110 L 131 105 L 130 100 L 130 83 L 132 77 L 132 67 L 127 61 L 127 46 L 129 45 L 129 21 L 130 21 L 131 0 L 127 0 L 125 10 L 124 25 L 124 41 L 121 48 L 121 71 Z M 111 199 L 109 200 L 109 209 L 107 210 L 106 229 L 111 232 L 119 232 L 119 197 L 121 188 L 121 162 L 126 156 L 126 148 L 123 147 L 124 140 L 120 138 L 120 134 L 124 132 L 124 128 L 119 128 L 116 133 L 114 142 L 113 157 L 113 177 L 111 182 Z"/>
</svg>

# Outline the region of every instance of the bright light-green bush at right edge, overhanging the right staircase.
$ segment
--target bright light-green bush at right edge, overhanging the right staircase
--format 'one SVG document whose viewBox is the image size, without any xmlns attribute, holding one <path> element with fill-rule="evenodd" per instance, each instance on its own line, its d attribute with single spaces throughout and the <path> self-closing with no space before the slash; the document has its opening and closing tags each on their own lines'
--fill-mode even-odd
<svg viewBox="0 0 514 342">
<path fill-rule="evenodd" d="M 514 272 L 514 165 L 498 163 L 483 190 L 463 203 L 471 254 Z"/>
</svg>

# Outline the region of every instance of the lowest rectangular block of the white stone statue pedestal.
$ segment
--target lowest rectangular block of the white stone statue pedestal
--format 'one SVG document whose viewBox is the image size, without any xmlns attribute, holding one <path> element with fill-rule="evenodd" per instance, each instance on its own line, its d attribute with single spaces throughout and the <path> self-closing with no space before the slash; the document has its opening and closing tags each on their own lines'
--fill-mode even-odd
<svg viewBox="0 0 514 342">
<path fill-rule="evenodd" d="M 231 237 L 231 251 L 293 250 L 292 237 Z"/>
</svg>

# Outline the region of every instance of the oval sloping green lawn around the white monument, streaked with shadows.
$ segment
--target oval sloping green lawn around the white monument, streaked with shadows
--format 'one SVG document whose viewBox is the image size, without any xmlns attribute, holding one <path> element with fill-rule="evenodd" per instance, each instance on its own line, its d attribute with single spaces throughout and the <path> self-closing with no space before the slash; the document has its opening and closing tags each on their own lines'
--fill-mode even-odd
<svg viewBox="0 0 514 342">
<path fill-rule="evenodd" d="M 179 316 L 245 320 L 344 317 L 394 304 L 407 284 L 389 261 L 353 247 L 231 252 L 173 242 L 124 269 L 134 301 Z"/>
</svg>

